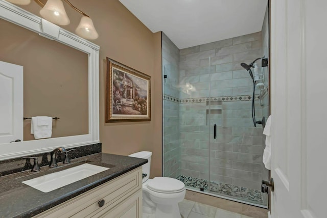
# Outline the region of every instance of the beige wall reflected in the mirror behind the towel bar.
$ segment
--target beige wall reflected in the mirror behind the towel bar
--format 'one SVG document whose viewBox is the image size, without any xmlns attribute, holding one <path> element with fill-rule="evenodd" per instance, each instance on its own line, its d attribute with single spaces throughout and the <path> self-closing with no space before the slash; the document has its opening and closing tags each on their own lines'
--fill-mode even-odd
<svg viewBox="0 0 327 218">
<path fill-rule="evenodd" d="M 88 55 L 3 19 L 0 26 L 0 61 L 24 67 L 24 116 L 59 117 L 52 138 L 88 134 Z"/>
</svg>

